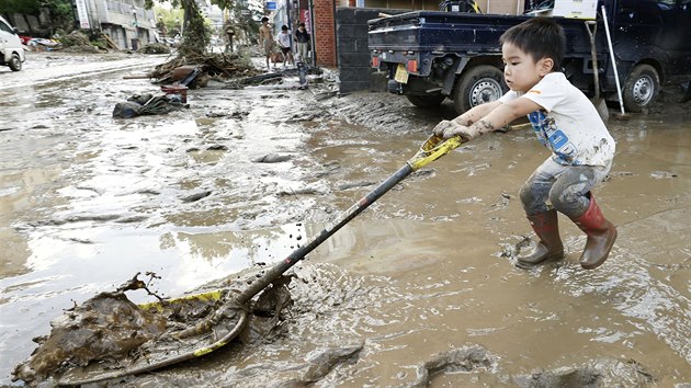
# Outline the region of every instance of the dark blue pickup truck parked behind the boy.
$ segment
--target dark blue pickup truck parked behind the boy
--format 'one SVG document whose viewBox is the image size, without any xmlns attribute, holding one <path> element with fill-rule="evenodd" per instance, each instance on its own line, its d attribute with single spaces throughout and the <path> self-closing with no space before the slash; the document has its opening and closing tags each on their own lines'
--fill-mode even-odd
<svg viewBox="0 0 691 388">
<path fill-rule="evenodd" d="M 691 82 L 691 0 L 600 0 L 628 112 L 649 106 L 665 84 Z M 531 15 L 414 11 L 369 21 L 373 68 L 387 71 L 388 90 L 417 106 L 453 100 L 462 113 L 507 91 L 499 36 Z M 586 21 L 554 16 L 567 45 L 563 71 L 594 94 L 591 41 Z M 602 13 L 597 15 L 600 93 L 618 100 Z"/>
</svg>

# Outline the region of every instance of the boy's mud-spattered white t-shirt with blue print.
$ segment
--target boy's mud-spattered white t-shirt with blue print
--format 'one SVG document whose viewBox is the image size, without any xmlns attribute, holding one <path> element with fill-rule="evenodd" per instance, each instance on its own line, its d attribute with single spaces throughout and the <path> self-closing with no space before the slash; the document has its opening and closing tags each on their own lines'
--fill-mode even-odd
<svg viewBox="0 0 691 388">
<path fill-rule="evenodd" d="M 507 92 L 500 102 L 524 96 L 543 110 L 528 115 L 537 139 L 564 166 L 607 167 L 614 158 L 614 139 L 594 105 L 562 72 L 546 75 L 525 93 Z"/>
</svg>

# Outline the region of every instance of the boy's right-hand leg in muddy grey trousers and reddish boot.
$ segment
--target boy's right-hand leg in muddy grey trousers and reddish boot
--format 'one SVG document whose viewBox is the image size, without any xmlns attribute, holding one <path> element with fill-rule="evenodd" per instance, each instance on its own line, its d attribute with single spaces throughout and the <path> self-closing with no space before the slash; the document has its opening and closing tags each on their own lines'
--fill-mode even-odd
<svg viewBox="0 0 691 388">
<path fill-rule="evenodd" d="M 580 265 L 586 270 L 602 265 L 616 240 L 616 228 L 602 216 L 590 192 L 607 176 L 610 167 L 569 167 L 550 192 L 554 207 L 567 215 L 588 236 L 580 255 Z"/>
</svg>

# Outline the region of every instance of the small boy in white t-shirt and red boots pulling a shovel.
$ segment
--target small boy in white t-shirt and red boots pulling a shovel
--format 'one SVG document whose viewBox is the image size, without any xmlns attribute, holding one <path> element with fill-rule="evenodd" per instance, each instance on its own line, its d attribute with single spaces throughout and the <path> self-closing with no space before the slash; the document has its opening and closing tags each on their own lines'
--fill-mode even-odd
<svg viewBox="0 0 691 388">
<path fill-rule="evenodd" d="M 588 98 L 557 69 L 564 58 L 564 31 L 546 18 L 534 18 L 499 38 L 503 76 L 510 91 L 498 101 L 443 121 L 434 134 L 471 140 L 528 115 L 537 139 L 552 151 L 520 191 L 523 209 L 540 242 L 518 266 L 530 267 L 564 256 L 557 213 L 568 216 L 588 240 L 580 255 L 584 269 L 600 266 L 616 239 L 616 228 L 600 212 L 590 190 L 607 176 L 614 139 Z M 550 208 L 550 199 L 554 208 Z"/>
</svg>

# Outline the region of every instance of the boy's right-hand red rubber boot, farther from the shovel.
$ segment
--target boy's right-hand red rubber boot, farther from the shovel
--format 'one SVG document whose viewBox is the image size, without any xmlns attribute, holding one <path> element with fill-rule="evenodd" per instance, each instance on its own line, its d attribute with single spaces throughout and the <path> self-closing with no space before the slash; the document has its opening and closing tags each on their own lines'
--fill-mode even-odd
<svg viewBox="0 0 691 388">
<path fill-rule="evenodd" d="M 594 196 L 588 193 L 590 205 L 580 217 L 571 219 L 580 230 L 588 236 L 586 248 L 580 255 L 580 266 L 586 270 L 593 270 L 602 265 L 612 250 L 616 240 L 616 228 L 612 222 L 602 217 L 600 206 L 594 201 Z"/>
</svg>

